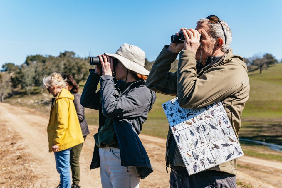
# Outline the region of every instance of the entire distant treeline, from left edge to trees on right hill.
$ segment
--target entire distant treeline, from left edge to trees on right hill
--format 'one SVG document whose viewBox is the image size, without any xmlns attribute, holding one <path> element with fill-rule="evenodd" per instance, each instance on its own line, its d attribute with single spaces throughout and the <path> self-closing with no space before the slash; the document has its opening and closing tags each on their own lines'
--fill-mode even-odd
<svg viewBox="0 0 282 188">
<path fill-rule="evenodd" d="M 277 59 L 268 53 L 263 56 L 255 55 L 252 58 L 244 58 L 244 61 L 249 71 L 259 69 L 260 73 L 263 68 L 278 63 Z M 145 68 L 151 70 L 153 62 L 146 59 Z M 178 59 L 172 63 L 171 71 L 177 71 L 177 67 Z M 87 79 L 89 68 L 94 68 L 89 65 L 89 57 L 81 58 L 72 51 L 65 51 L 58 56 L 30 55 L 20 66 L 5 63 L 1 71 L 8 73 L 9 76 L 4 78 L 3 74 L 0 74 L 0 100 L 3 101 L 5 97 L 14 95 L 22 89 L 30 95 L 34 86 L 42 88 L 42 79 L 53 72 L 71 74 L 77 83 L 80 83 Z"/>
</svg>

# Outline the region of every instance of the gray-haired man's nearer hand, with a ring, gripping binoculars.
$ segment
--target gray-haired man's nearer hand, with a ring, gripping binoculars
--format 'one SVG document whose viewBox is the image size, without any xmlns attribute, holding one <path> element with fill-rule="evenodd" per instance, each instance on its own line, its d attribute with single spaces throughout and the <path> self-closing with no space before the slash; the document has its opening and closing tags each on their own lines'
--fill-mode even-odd
<svg viewBox="0 0 282 188">
<path fill-rule="evenodd" d="M 185 37 L 183 50 L 191 50 L 195 54 L 200 46 L 200 35 L 195 29 L 182 29 L 183 35 Z"/>
</svg>

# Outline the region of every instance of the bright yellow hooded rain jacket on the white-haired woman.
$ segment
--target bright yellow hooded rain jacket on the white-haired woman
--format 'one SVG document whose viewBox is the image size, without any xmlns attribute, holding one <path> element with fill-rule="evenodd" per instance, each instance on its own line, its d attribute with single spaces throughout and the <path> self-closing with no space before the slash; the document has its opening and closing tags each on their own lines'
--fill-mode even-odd
<svg viewBox="0 0 282 188">
<path fill-rule="evenodd" d="M 62 151 L 84 142 L 73 100 L 74 96 L 63 88 L 52 104 L 47 127 L 49 152 L 53 144 Z"/>
</svg>

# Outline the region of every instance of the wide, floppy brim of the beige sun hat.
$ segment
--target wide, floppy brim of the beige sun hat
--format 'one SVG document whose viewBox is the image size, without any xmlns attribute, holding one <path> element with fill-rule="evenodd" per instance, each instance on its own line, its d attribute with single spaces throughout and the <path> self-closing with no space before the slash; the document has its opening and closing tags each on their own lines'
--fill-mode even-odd
<svg viewBox="0 0 282 188">
<path fill-rule="evenodd" d="M 130 61 L 129 59 L 118 55 L 116 53 L 105 53 L 107 56 L 113 57 L 113 58 L 117 58 L 126 68 L 128 68 L 129 70 L 132 70 L 138 74 L 142 74 L 142 75 L 149 75 L 150 71 L 148 71 L 147 69 L 145 69 L 143 66 Z"/>
</svg>

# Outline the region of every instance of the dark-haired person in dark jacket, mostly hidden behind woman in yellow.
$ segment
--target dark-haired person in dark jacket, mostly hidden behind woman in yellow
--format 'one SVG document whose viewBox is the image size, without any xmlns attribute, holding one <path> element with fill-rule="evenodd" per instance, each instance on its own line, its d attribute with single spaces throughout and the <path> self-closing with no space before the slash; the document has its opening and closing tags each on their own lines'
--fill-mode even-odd
<svg viewBox="0 0 282 188">
<path fill-rule="evenodd" d="M 90 133 L 88 125 L 84 116 L 84 108 L 80 104 L 81 95 L 78 93 L 79 86 L 75 79 L 70 74 L 63 74 L 63 78 L 66 80 L 66 88 L 74 95 L 74 106 L 80 123 L 83 138 L 85 140 L 86 136 Z M 70 169 L 72 172 L 73 184 L 72 188 L 79 188 L 80 181 L 80 166 L 79 166 L 79 156 L 82 150 L 83 143 L 72 147 L 70 150 Z"/>
</svg>

